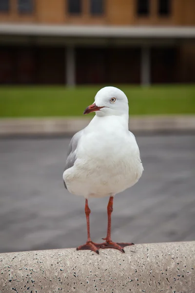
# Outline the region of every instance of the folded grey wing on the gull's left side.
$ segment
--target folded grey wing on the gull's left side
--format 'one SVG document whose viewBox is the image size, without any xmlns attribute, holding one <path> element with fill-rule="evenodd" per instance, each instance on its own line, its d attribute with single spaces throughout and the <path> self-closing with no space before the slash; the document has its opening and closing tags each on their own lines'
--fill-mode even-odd
<svg viewBox="0 0 195 293">
<path fill-rule="evenodd" d="M 72 137 L 70 144 L 68 146 L 68 152 L 67 152 L 67 157 L 66 157 L 66 166 L 64 168 L 64 171 L 73 167 L 75 164 L 75 161 L 77 159 L 77 154 L 76 154 L 76 149 L 78 146 L 78 141 L 80 137 L 82 136 L 83 129 L 75 133 L 75 135 Z M 64 186 L 67 189 L 67 186 L 64 182 Z"/>
</svg>

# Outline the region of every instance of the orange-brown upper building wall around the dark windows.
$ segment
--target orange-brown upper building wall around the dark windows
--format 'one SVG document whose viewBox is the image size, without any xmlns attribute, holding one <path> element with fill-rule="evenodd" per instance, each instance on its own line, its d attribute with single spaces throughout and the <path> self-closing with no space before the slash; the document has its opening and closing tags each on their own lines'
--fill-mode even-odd
<svg viewBox="0 0 195 293">
<path fill-rule="evenodd" d="M 149 0 L 147 16 L 137 15 L 137 0 L 102 0 L 100 15 L 90 14 L 90 0 L 81 1 L 81 13 L 71 15 L 68 0 L 34 0 L 32 13 L 18 13 L 18 0 L 9 0 L 10 10 L 0 12 L 0 22 L 33 22 L 49 24 L 107 24 L 107 25 L 195 25 L 195 0 L 170 0 L 171 13 L 159 16 L 158 0 Z"/>
</svg>

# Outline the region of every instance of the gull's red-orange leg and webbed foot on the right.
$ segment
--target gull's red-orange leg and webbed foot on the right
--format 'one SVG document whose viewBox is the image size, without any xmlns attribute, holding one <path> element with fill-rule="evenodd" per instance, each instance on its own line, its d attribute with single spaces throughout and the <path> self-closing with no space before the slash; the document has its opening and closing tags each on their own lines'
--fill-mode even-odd
<svg viewBox="0 0 195 293">
<path fill-rule="evenodd" d="M 108 230 L 107 230 L 107 236 L 106 238 L 103 238 L 103 240 L 106 240 L 104 243 L 101 244 L 99 248 L 115 248 L 121 252 L 124 251 L 125 246 L 134 245 L 134 243 L 116 243 L 111 240 L 111 213 L 113 212 L 113 196 L 110 197 L 107 207 L 108 212 Z"/>
</svg>

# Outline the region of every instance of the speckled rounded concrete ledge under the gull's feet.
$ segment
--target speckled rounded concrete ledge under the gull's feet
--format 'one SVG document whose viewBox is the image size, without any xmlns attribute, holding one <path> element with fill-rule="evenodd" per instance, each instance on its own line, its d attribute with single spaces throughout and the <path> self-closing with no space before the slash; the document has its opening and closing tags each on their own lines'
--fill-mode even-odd
<svg viewBox="0 0 195 293">
<path fill-rule="evenodd" d="M 0 292 L 194 293 L 195 242 L 2 253 Z"/>
</svg>

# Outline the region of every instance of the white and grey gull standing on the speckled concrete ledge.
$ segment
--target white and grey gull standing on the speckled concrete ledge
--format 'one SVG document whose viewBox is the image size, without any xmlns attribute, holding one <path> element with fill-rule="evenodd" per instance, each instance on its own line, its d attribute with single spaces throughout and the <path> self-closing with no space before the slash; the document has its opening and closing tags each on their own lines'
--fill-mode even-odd
<svg viewBox="0 0 195 293">
<path fill-rule="evenodd" d="M 136 184 L 143 172 L 136 138 L 128 127 L 128 99 L 117 87 L 103 87 L 83 114 L 91 112 L 96 112 L 94 118 L 70 142 L 63 172 L 65 188 L 85 198 L 88 237 L 77 250 L 99 253 L 100 248 L 114 248 L 125 252 L 124 247 L 134 244 L 111 240 L 113 200 L 117 193 Z M 109 196 L 107 236 L 98 244 L 90 236 L 88 199 L 104 196 Z"/>
</svg>

